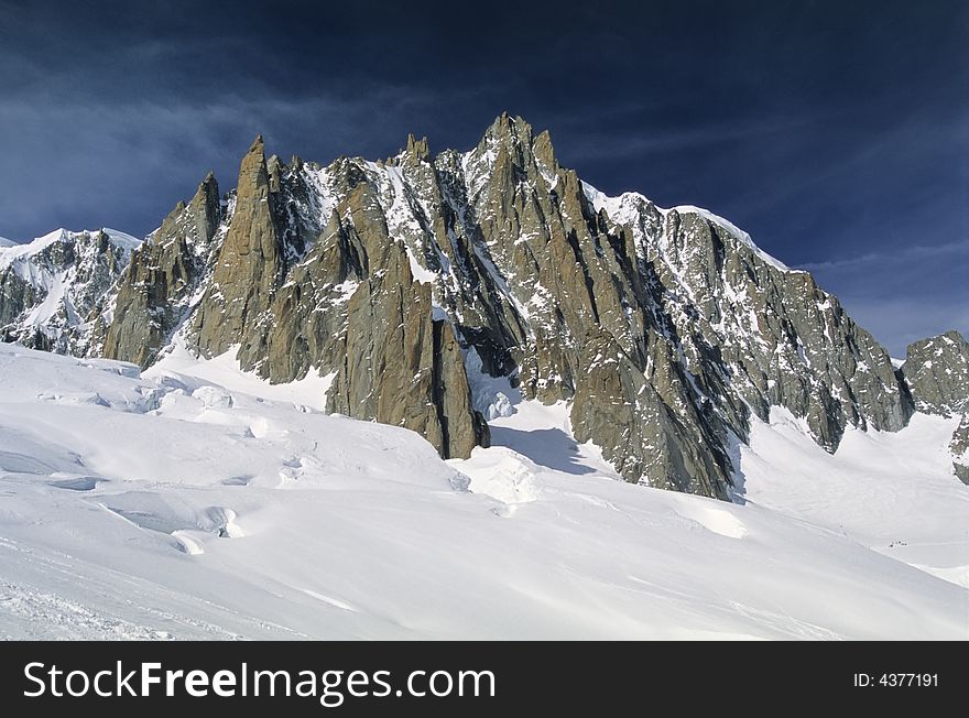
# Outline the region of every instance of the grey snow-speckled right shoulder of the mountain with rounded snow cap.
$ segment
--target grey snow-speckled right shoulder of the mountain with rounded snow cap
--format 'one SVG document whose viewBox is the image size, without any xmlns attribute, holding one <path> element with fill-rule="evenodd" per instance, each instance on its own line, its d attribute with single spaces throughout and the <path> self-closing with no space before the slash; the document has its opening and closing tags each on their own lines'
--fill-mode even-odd
<svg viewBox="0 0 969 718">
<path fill-rule="evenodd" d="M 772 405 L 786 406 L 831 452 L 849 424 L 906 424 L 913 407 L 888 352 L 810 274 L 783 266 L 705 210 L 589 195 L 616 231 L 632 233 L 654 320 L 697 395 L 722 403 L 740 436 L 744 404 L 764 420 Z"/>
</svg>

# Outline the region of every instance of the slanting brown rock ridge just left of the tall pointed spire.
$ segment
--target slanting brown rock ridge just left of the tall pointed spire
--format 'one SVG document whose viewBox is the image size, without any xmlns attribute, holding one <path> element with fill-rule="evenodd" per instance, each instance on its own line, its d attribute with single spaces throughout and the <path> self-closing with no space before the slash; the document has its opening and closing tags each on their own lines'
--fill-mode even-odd
<svg viewBox="0 0 969 718">
<path fill-rule="evenodd" d="M 113 306 L 108 307 L 113 318 L 98 353 L 141 367 L 154 361 L 193 308 L 220 220 L 219 187 L 209 173 L 192 200 L 179 202 L 132 254 Z"/>
</svg>

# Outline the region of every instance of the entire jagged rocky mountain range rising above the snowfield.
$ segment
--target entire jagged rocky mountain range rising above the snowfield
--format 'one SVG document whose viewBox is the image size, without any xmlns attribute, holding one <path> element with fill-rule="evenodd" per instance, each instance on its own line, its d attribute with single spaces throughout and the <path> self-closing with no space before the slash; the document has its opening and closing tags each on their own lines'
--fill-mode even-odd
<svg viewBox="0 0 969 718">
<path fill-rule="evenodd" d="M 575 439 L 627 481 L 729 499 L 772 407 L 834 453 L 849 427 L 896 432 L 966 401 L 922 350 L 896 370 L 729 221 L 608 197 L 508 115 L 468 152 L 410 137 L 378 162 L 284 163 L 258 138 L 233 192 L 207 176 L 140 248 L 85 237 L 72 246 L 104 249 L 51 264 L 59 284 L 3 280 L 7 337 L 141 367 L 229 352 L 276 383 L 312 372 L 327 411 L 413 429 L 444 458 L 488 446 L 516 391 L 566 403 Z M 63 318 L 36 314 L 44 297 Z"/>
</svg>

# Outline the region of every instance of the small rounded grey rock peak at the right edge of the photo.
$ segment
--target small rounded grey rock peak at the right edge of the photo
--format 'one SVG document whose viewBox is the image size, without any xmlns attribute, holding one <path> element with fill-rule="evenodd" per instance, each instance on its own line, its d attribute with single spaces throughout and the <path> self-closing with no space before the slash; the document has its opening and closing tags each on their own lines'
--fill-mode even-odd
<svg viewBox="0 0 969 718">
<path fill-rule="evenodd" d="M 958 331 L 910 344 L 902 373 L 918 411 L 969 413 L 969 342 Z"/>
</svg>

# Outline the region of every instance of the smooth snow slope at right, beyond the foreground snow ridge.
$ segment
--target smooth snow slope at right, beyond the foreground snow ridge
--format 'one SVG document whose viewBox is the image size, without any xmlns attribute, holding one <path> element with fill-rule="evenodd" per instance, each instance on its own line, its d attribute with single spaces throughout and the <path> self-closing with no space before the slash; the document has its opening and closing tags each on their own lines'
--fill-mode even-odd
<svg viewBox="0 0 969 718">
<path fill-rule="evenodd" d="M 803 421 L 775 409 L 739 447 L 741 500 L 969 588 L 969 491 L 948 450 L 958 423 L 915 414 L 897 434 L 851 429 L 830 455 L 817 450 Z"/>
</svg>

